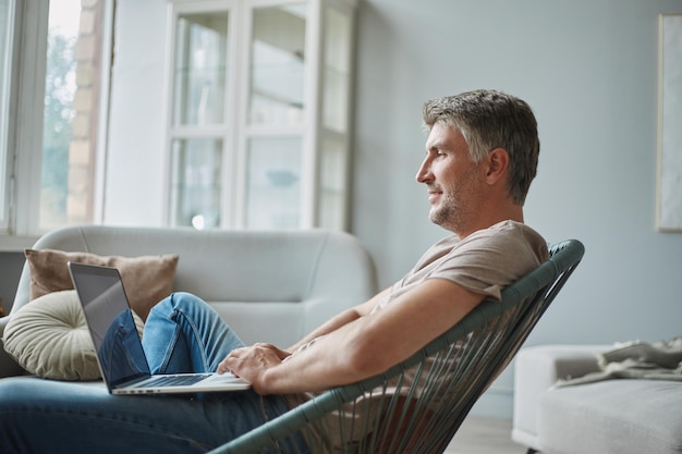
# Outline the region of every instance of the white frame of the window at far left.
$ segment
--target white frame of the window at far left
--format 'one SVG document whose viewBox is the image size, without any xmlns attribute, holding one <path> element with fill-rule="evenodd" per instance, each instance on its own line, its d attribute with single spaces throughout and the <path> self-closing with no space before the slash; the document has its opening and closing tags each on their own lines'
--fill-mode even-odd
<svg viewBox="0 0 682 454">
<path fill-rule="evenodd" d="M 103 56 L 111 56 L 114 1 L 106 0 Z M 8 225 L 0 232 L 0 250 L 28 247 L 40 236 L 40 172 L 49 1 L 14 2 L 12 69 L 8 124 L 8 177 L 2 188 L 8 201 Z M 105 204 L 107 112 L 111 59 L 101 61 L 98 151 L 95 168 L 94 223 L 100 223 Z"/>
</svg>

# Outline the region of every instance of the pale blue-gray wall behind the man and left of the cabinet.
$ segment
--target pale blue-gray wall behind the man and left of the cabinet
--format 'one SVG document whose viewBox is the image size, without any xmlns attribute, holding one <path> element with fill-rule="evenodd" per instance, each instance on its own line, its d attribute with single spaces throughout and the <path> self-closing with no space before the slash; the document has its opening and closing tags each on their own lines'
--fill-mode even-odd
<svg viewBox="0 0 682 454">
<path fill-rule="evenodd" d="M 106 218 L 160 224 L 163 0 L 119 0 Z M 473 88 L 526 99 L 539 122 L 526 222 L 586 246 L 528 344 L 682 334 L 682 233 L 655 230 L 659 13 L 682 0 L 363 0 L 353 232 L 382 285 L 444 232 L 414 182 L 423 101 Z M 143 184 L 144 182 L 144 184 Z M 511 415 L 511 373 L 477 406 Z"/>
</svg>

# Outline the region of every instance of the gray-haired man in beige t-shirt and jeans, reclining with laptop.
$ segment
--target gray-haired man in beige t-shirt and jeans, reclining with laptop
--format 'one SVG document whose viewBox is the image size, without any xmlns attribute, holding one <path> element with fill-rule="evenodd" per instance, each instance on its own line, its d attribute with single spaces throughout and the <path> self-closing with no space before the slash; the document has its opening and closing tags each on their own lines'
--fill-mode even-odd
<svg viewBox="0 0 682 454">
<path fill-rule="evenodd" d="M 0 452 L 205 452 L 306 398 L 385 371 L 548 256 L 523 224 L 539 140 L 531 108 L 494 90 L 427 102 L 425 184 L 433 222 L 452 235 L 399 282 L 287 349 L 244 346 L 197 297 L 173 294 L 145 326 L 153 371 L 232 371 L 253 391 L 204 398 L 117 397 L 68 383 L 0 381 Z M 40 433 L 38 434 L 38 428 Z M 114 435 L 114 433 L 117 433 Z M 300 441 L 305 449 L 305 442 Z"/>
</svg>

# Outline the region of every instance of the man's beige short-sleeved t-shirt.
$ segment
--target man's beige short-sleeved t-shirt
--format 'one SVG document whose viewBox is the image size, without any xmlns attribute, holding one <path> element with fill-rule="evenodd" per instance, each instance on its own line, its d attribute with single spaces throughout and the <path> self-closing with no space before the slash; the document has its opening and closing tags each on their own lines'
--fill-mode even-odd
<svg viewBox="0 0 682 454">
<path fill-rule="evenodd" d="M 519 222 L 503 221 L 475 232 L 463 241 L 452 235 L 431 246 L 415 267 L 392 285 L 391 292 L 375 306 L 373 312 L 381 310 L 427 279 L 447 279 L 472 292 L 499 300 L 504 286 L 537 268 L 548 257 L 545 240 L 533 229 Z M 411 376 L 410 371 L 405 372 L 403 384 L 411 381 Z M 289 395 L 287 401 L 294 407 L 314 396 L 313 393 Z M 380 402 L 375 402 L 372 397 L 361 405 L 370 408 L 365 415 L 372 415 L 373 418 L 381 410 Z M 342 413 L 330 415 L 320 421 L 319 428 L 314 430 L 314 437 L 306 437 L 308 443 L 317 446 L 322 442 L 326 445 L 325 451 L 333 452 L 337 443 L 334 433 L 341 430 L 340 425 L 344 426 L 346 433 L 353 431 L 358 437 L 363 435 L 363 431 L 357 430 L 358 427 L 372 426 L 356 417 L 340 418 Z"/>
</svg>

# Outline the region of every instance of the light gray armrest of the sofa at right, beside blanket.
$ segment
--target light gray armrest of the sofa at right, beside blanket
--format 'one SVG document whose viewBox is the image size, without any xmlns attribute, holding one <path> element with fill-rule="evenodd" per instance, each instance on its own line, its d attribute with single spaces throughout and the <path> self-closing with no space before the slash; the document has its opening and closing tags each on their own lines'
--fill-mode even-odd
<svg viewBox="0 0 682 454">
<path fill-rule="evenodd" d="M 609 345 L 539 345 L 522 348 L 514 363 L 512 440 L 538 450 L 540 396 L 558 380 L 599 370 L 597 353 Z"/>
</svg>

